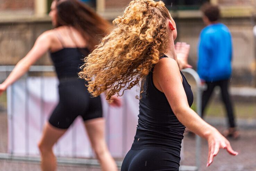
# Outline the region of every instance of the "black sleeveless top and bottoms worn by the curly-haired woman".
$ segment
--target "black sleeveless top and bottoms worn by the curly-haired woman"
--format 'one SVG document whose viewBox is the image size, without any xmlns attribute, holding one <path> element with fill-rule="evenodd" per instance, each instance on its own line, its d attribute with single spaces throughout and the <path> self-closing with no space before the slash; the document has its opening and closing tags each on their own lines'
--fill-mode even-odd
<svg viewBox="0 0 256 171">
<path fill-rule="evenodd" d="M 160 59 L 164 57 L 167 56 L 164 55 Z M 173 113 L 164 93 L 155 87 L 152 71 L 146 77 L 144 92 L 139 102 L 136 135 L 131 151 L 123 161 L 121 171 L 137 171 L 138 169 L 135 166 L 141 168 L 139 169 L 141 171 L 161 170 L 161 168 L 168 167 L 173 168 L 173 170 L 179 170 L 181 141 L 184 138 L 185 126 L 179 122 Z M 194 99 L 193 93 L 185 76 L 182 73 L 181 76 L 183 79 L 182 85 L 186 92 L 189 106 L 191 106 Z M 148 151 L 152 150 L 152 148 L 159 149 L 159 154 L 151 155 L 152 159 L 150 160 L 158 161 L 154 162 L 154 168 L 156 169 L 146 168 L 145 164 L 143 164 L 148 160 L 143 157 L 146 157 L 149 153 Z M 157 150 L 155 150 L 155 153 L 157 153 Z M 160 158 L 157 157 L 159 155 L 161 156 Z M 165 160 L 168 156 L 172 160 Z"/>
</svg>

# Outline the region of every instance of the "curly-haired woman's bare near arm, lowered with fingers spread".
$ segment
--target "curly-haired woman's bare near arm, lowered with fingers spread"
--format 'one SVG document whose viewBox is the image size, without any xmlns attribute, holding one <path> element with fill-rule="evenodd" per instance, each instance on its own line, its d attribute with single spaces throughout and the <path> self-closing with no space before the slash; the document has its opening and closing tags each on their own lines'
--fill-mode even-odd
<svg viewBox="0 0 256 171">
<path fill-rule="evenodd" d="M 226 148 L 232 155 L 237 155 L 230 146 L 229 141 L 219 131 L 206 123 L 192 109 L 190 109 L 187 96 L 182 85 L 179 67 L 177 62 L 171 58 L 164 58 L 157 63 L 154 69 L 154 78 L 159 90 L 168 99 L 168 102 L 178 118 L 189 130 L 208 140 L 209 154 L 207 166 L 213 157 L 217 155 L 220 148 Z"/>
</svg>

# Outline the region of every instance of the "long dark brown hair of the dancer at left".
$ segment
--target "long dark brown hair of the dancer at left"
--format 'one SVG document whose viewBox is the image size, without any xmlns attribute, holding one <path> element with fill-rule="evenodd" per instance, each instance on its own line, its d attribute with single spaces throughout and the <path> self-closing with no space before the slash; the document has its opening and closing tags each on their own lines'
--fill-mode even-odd
<svg viewBox="0 0 256 171">
<path fill-rule="evenodd" d="M 57 2 L 57 23 L 72 26 L 79 31 L 92 50 L 111 30 L 111 25 L 91 8 L 78 0 L 55 0 Z"/>
</svg>

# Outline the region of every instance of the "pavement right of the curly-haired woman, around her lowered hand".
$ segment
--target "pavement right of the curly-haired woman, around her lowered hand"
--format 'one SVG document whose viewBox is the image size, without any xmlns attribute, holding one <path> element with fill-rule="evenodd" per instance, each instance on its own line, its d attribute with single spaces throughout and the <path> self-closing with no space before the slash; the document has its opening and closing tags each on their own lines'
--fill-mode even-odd
<svg viewBox="0 0 256 171">
<path fill-rule="evenodd" d="M 220 132 L 225 126 L 216 127 Z M 214 158 L 213 163 L 206 168 L 208 146 L 202 139 L 200 171 L 256 171 L 256 129 L 240 128 L 240 138 L 229 139 L 232 148 L 239 152 L 237 156 L 229 155 L 224 149 Z M 184 138 L 184 160 L 181 164 L 195 165 L 195 137 L 186 135 Z"/>
</svg>

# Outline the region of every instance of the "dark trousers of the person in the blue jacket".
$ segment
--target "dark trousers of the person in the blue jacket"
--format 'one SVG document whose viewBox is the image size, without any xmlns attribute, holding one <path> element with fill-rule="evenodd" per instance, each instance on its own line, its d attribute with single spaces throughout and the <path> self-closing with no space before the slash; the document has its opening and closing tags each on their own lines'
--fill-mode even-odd
<svg viewBox="0 0 256 171">
<path fill-rule="evenodd" d="M 234 121 L 233 107 L 232 107 L 232 103 L 231 103 L 229 92 L 228 92 L 229 79 L 220 80 L 216 82 L 206 82 L 206 84 L 207 84 L 207 90 L 203 92 L 203 96 L 202 96 L 202 118 L 204 117 L 204 110 L 212 95 L 214 87 L 220 86 L 222 101 L 225 104 L 227 117 L 229 120 L 229 127 L 230 128 L 236 127 L 236 124 Z"/>
</svg>

